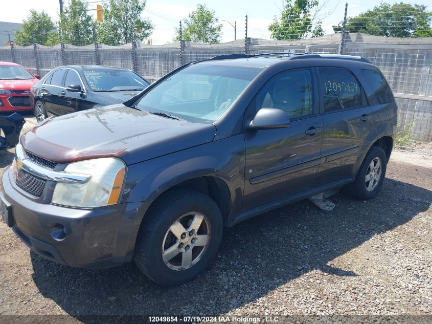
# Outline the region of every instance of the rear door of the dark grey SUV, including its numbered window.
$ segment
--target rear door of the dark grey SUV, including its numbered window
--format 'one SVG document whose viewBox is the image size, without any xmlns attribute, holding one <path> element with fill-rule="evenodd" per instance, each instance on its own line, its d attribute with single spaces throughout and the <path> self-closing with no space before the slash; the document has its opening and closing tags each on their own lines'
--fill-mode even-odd
<svg viewBox="0 0 432 324">
<path fill-rule="evenodd" d="M 372 110 L 353 73 L 316 68 L 324 122 L 319 184 L 353 178 L 359 150 L 374 126 Z"/>
</svg>

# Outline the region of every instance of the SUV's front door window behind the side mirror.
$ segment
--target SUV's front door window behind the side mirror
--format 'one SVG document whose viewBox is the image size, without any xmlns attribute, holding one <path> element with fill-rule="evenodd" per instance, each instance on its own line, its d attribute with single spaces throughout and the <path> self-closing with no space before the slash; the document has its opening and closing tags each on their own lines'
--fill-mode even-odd
<svg viewBox="0 0 432 324">
<path fill-rule="evenodd" d="M 310 70 L 292 70 L 272 77 L 256 97 L 257 111 L 277 108 L 290 119 L 312 115 Z"/>
</svg>

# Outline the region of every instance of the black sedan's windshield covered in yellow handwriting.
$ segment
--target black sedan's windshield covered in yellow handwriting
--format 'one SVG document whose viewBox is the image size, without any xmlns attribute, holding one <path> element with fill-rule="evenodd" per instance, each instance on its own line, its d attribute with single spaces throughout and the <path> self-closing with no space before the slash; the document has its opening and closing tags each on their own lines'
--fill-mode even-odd
<svg viewBox="0 0 432 324">
<path fill-rule="evenodd" d="M 111 92 L 143 90 L 148 83 L 139 75 L 128 70 L 84 70 L 84 77 L 93 91 Z"/>
</svg>

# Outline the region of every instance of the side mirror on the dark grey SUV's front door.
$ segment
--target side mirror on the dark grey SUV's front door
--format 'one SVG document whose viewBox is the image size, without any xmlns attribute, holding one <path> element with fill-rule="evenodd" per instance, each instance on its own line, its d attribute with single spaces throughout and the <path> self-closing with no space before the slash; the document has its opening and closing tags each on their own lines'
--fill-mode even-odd
<svg viewBox="0 0 432 324">
<path fill-rule="evenodd" d="M 269 128 L 284 128 L 290 125 L 288 115 L 276 108 L 261 108 L 255 115 L 254 119 L 247 129 L 269 129 Z"/>
</svg>

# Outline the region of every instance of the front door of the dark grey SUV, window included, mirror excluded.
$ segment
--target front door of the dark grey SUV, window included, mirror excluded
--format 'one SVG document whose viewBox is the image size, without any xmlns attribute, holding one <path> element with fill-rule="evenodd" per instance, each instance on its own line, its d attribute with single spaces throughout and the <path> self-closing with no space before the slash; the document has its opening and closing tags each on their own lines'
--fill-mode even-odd
<svg viewBox="0 0 432 324">
<path fill-rule="evenodd" d="M 323 120 L 311 69 L 288 70 L 267 81 L 248 110 L 281 109 L 285 128 L 245 131 L 244 210 L 312 188 L 321 159 Z M 251 112 L 248 111 L 247 115 Z"/>
</svg>

